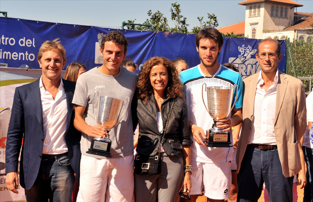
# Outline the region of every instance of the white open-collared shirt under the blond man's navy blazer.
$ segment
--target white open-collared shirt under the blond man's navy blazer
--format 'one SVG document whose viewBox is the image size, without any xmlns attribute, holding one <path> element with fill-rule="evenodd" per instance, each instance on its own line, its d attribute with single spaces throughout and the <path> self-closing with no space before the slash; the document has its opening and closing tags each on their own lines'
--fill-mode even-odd
<svg viewBox="0 0 313 202">
<path fill-rule="evenodd" d="M 59 92 L 53 100 L 52 95 L 45 90 L 40 78 L 40 96 L 44 121 L 43 154 L 63 154 L 67 152 L 65 132 L 67 130 L 67 100 L 64 84 L 61 79 Z M 31 126 L 30 126 L 31 127 Z"/>
</svg>

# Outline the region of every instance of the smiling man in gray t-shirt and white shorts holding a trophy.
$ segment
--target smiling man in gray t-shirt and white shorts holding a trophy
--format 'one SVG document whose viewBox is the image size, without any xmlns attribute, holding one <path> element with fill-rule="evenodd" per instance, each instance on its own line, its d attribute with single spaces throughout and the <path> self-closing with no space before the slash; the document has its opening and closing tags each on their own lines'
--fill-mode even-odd
<svg viewBox="0 0 313 202">
<path fill-rule="evenodd" d="M 137 75 L 120 67 L 126 57 L 127 45 L 127 39 L 120 31 L 106 34 L 100 46 L 103 65 L 82 74 L 77 80 L 73 98 L 74 126 L 82 132 L 81 177 L 77 201 L 134 202 L 131 103 L 123 119 L 110 131 L 112 158 L 86 153 L 93 138 L 108 135 L 102 126 L 97 125 L 93 115 L 94 92 L 97 91 L 99 96 L 120 100 L 129 97 L 130 102 L 133 99 Z M 97 103 L 96 100 L 94 102 Z"/>
</svg>

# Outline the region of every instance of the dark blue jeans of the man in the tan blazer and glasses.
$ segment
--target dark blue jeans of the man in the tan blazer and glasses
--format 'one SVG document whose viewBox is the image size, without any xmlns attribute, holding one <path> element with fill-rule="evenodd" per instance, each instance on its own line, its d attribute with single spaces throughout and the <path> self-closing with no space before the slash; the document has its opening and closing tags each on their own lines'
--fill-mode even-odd
<svg viewBox="0 0 313 202">
<path fill-rule="evenodd" d="M 237 181 L 237 202 L 257 202 L 264 182 L 271 202 L 292 202 L 293 177 L 284 177 L 277 149 L 259 150 L 248 145 Z"/>
</svg>

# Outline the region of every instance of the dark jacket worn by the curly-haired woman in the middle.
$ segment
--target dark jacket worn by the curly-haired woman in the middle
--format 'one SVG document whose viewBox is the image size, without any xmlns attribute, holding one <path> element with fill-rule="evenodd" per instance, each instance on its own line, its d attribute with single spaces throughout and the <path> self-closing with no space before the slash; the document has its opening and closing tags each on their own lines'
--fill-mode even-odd
<svg viewBox="0 0 313 202">
<path fill-rule="evenodd" d="M 165 99 L 161 105 L 163 128 L 168 118 L 173 99 Z M 162 135 L 157 129 L 156 100 L 151 96 L 147 104 L 141 99 L 136 102 L 136 115 L 134 123 L 139 122 L 139 137 L 136 151 L 141 155 L 156 155 L 162 140 Z M 188 107 L 183 98 L 176 98 L 168 128 L 164 136 L 163 149 L 169 156 L 182 157 L 182 144 L 191 145 L 189 133 Z"/>
</svg>

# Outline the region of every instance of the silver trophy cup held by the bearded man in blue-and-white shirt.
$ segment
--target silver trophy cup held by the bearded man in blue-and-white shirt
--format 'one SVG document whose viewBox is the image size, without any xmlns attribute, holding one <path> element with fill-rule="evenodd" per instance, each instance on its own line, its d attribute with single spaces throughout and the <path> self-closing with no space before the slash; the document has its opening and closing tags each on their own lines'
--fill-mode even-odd
<svg viewBox="0 0 313 202">
<path fill-rule="evenodd" d="M 208 86 L 206 84 L 202 84 L 205 86 L 205 91 L 207 92 L 207 105 L 204 103 L 203 93 L 202 93 L 202 101 L 205 106 L 206 111 L 213 118 L 212 128 L 206 130 L 206 146 L 210 147 L 231 147 L 232 142 L 230 141 L 230 132 L 223 131 L 224 128 L 218 128 L 216 122 L 221 119 L 224 119 L 229 116 L 231 110 L 235 106 L 238 95 L 238 85 L 236 99 L 231 106 L 231 102 L 233 100 L 234 87 L 225 87 L 225 86 Z"/>
</svg>

